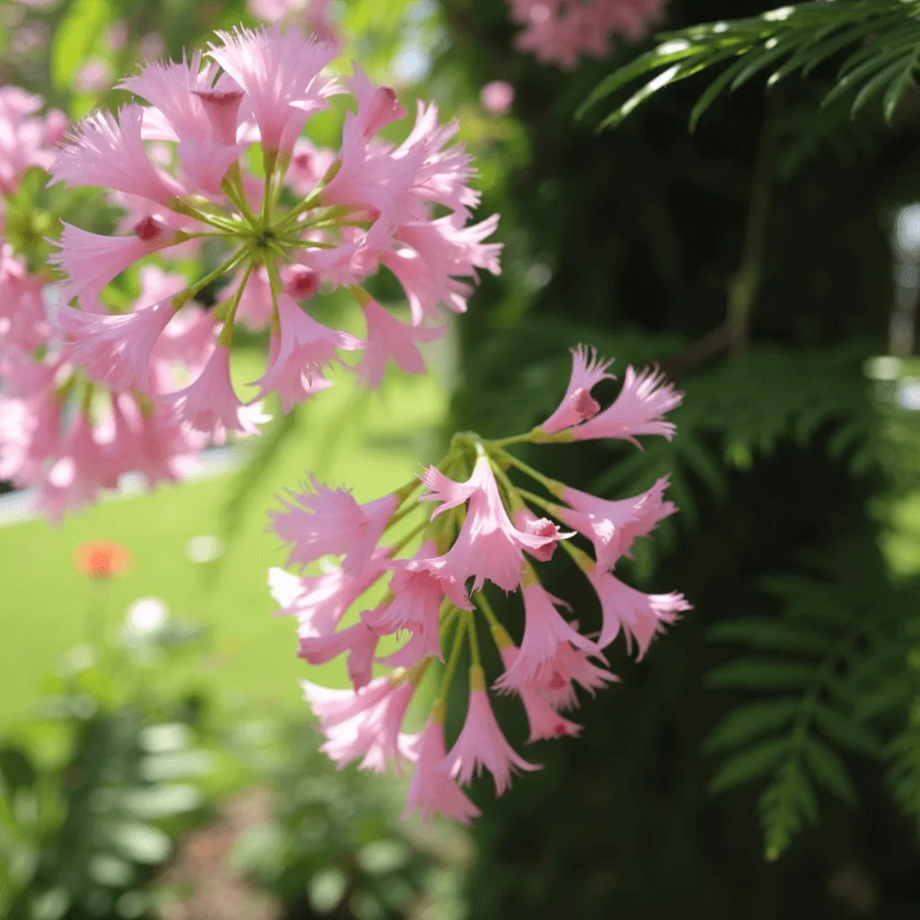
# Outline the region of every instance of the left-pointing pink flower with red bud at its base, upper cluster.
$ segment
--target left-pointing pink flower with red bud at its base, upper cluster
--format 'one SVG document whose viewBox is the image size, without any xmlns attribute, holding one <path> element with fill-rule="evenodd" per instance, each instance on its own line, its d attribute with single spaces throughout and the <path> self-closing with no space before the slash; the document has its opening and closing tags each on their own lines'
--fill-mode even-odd
<svg viewBox="0 0 920 920">
<path fill-rule="evenodd" d="M 97 310 L 99 294 L 109 282 L 134 262 L 177 241 L 175 231 L 152 219 L 138 226 L 133 236 L 99 236 L 63 223 L 60 251 L 49 261 L 67 273 L 64 298 L 76 297 L 83 309 Z"/>
</svg>

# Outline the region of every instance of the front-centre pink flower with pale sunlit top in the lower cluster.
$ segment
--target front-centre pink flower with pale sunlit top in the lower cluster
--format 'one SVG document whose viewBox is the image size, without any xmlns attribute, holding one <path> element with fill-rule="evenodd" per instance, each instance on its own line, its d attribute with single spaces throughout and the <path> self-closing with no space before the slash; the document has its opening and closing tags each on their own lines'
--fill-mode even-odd
<svg viewBox="0 0 920 920">
<path fill-rule="evenodd" d="M 454 546 L 428 566 L 442 561 L 445 574 L 461 584 L 473 576 L 474 591 L 478 591 L 487 579 L 504 591 L 513 591 L 521 583 L 522 550 L 539 550 L 558 539 L 558 534 L 525 534 L 512 524 L 486 456 L 479 457 L 473 475 L 465 483 L 454 482 L 434 466 L 426 470 L 422 481 L 431 492 L 422 495 L 420 501 L 442 502 L 431 513 L 432 520 L 441 512 L 468 501 L 466 520 Z"/>
</svg>

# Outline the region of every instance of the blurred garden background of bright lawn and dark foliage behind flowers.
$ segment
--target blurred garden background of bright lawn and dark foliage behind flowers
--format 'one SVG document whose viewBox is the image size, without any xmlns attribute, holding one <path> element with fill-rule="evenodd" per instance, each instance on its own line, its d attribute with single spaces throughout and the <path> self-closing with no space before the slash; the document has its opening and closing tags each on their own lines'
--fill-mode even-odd
<svg viewBox="0 0 920 920">
<path fill-rule="evenodd" d="M 77 120 L 120 104 L 112 86 L 147 58 L 239 23 L 307 28 L 310 6 L 3 0 L 0 83 Z M 771 6 L 670 0 L 650 33 Z M 807 79 L 765 91 L 765 67 L 693 132 L 712 75 L 598 132 L 613 101 L 576 110 L 651 35 L 560 69 L 515 46 L 499 0 L 331 0 L 328 20 L 337 66 L 460 121 L 481 213 L 501 215 L 501 274 L 424 347 L 431 374 L 391 368 L 372 393 L 342 375 L 200 477 L 129 481 L 56 527 L 6 487 L 0 915 L 920 915 L 920 90 L 890 123 L 822 108 L 842 42 Z M 43 186 L 5 196 L 14 245 L 56 236 Z M 645 660 L 612 651 L 622 683 L 582 699 L 581 738 L 534 746 L 541 771 L 499 799 L 477 781 L 472 828 L 400 822 L 407 777 L 317 751 L 297 681 L 347 678 L 299 661 L 271 616 L 286 554 L 266 509 L 311 472 L 371 500 L 454 431 L 528 431 L 582 342 L 616 374 L 659 364 L 686 394 L 679 437 L 522 455 L 611 499 L 670 474 L 680 513 L 627 573 L 694 609 Z M 246 393 L 264 342 L 235 345 Z M 87 577 L 78 550 L 99 541 L 130 565 Z M 576 616 L 593 610 L 587 585 L 558 580 Z M 520 715 L 496 710 L 519 742 Z"/>
</svg>

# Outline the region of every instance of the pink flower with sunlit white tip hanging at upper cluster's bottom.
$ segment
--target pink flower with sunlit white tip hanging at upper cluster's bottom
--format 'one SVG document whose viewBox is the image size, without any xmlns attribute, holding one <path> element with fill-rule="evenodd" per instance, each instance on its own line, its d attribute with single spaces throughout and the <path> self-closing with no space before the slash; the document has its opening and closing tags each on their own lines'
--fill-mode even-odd
<svg viewBox="0 0 920 920">
<path fill-rule="evenodd" d="M 195 431 L 212 434 L 223 441 L 228 431 L 241 435 L 259 433 L 259 424 L 268 421 L 260 403 L 244 405 L 236 397 L 230 380 L 230 350 L 218 345 L 194 383 L 160 397 L 172 417 L 188 422 Z"/>
</svg>

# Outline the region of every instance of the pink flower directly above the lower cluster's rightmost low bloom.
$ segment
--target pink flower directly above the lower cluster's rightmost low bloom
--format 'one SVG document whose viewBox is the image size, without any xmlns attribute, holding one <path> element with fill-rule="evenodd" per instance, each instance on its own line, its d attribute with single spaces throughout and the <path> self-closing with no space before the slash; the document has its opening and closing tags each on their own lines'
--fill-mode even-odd
<svg viewBox="0 0 920 920">
<path fill-rule="evenodd" d="M 571 509 L 557 505 L 553 514 L 587 536 L 594 545 L 598 567 L 609 570 L 618 558 L 628 554 L 637 537 L 649 535 L 658 523 L 677 511 L 672 501 L 661 500 L 667 486 L 668 477 L 661 477 L 648 491 L 619 501 L 599 499 L 567 487 L 561 498 Z"/>
</svg>

